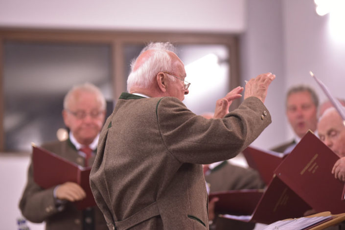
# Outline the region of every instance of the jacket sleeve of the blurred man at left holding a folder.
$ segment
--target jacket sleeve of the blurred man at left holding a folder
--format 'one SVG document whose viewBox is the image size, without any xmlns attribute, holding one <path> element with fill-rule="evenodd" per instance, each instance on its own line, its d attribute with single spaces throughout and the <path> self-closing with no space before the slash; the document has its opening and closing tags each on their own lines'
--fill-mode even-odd
<svg viewBox="0 0 345 230">
<path fill-rule="evenodd" d="M 54 188 L 43 189 L 34 182 L 32 163 L 27 174 L 27 183 L 24 188 L 19 208 L 23 216 L 34 223 L 41 223 L 49 216 L 59 212 L 55 205 Z"/>
</svg>

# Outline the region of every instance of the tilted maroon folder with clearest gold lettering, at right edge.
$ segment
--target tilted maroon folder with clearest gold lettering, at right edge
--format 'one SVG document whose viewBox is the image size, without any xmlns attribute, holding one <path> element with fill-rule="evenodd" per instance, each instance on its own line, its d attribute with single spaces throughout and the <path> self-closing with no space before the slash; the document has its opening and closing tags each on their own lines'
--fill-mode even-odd
<svg viewBox="0 0 345 230">
<path fill-rule="evenodd" d="M 339 157 L 311 131 L 276 168 L 276 175 L 317 212 L 345 210 L 344 182 L 331 173 Z"/>
</svg>

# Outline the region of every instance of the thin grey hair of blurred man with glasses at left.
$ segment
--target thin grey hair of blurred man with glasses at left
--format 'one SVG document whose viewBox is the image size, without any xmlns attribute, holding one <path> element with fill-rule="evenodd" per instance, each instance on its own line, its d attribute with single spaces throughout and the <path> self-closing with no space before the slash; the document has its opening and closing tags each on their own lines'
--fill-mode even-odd
<svg viewBox="0 0 345 230">
<path fill-rule="evenodd" d="M 106 101 L 105 98 L 101 92 L 101 90 L 95 86 L 94 84 L 91 83 L 84 83 L 84 84 L 79 84 L 79 85 L 74 85 L 66 94 L 64 98 L 64 109 L 69 108 L 69 102 L 70 100 L 75 96 L 74 92 L 76 91 L 84 91 L 84 92 L 91 92 L 96 95 L 97 100 L 101 104 L 101 108 L 105 109 L 106 108 Z"/>
</svg>

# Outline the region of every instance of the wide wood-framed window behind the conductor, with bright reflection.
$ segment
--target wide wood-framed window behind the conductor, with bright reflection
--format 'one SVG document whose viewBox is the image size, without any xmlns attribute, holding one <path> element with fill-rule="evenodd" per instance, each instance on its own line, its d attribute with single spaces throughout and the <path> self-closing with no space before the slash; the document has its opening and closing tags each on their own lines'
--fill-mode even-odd
<svg viewBox="0 0 345 230">
<path fill-rule="evenodd" d="M 232 35 L 2 29 L 0 151 L 29 152 L 31 142 L 56 140 L 63 98 L 74 84 L 100 87 L 110 113 L 126 91 L 130 61 L 150 41 L 177 46 L 192 83 L 184 103 L 193 112 L 214 111 L 215 101 L 238 85 Z"/>
</svg>

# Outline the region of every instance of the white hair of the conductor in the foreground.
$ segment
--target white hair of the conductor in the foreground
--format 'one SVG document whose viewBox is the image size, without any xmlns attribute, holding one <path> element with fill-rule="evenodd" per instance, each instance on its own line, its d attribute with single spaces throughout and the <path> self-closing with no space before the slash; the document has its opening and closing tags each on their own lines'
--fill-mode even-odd
<svg viewBox="0 0 345 230">
<path fill-rule="evenodd" d="M 138 57 L 147 50 L 154 50 L 154 52 L 134 70 Z M 128 92 L 130 92 L 133 86 L 141 88 L 149 87 L 161 71 L 173 72 L 173 63 L 167 51 L 175 53 L 176 48 L 170 42 L 151 42 L 141 50 L 138 57 L 131 62 L 131 73 L 127 79 Z M 168 77 L 170 80 L 175 81 L 174 77 L 170 75 Z"/>
</svg>

